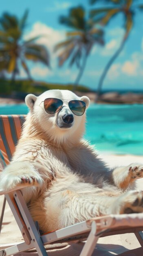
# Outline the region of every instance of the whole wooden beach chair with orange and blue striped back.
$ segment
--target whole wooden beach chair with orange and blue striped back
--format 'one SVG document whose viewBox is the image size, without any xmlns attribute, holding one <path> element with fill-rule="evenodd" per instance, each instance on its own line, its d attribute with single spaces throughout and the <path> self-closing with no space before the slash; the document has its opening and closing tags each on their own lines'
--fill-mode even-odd
<svg viewBox="0 0 143 256">
<path fill-rule="evenodd" d="M 20 137 L 21 126 L 24 123 L 24 115 L 3 115 L 0 116 L 0 169 L 4 168 L 11 159 L 15 145 Z M 11 208 L 15 220 L 20 228 L 24 242 L 12 245 L 5 245 L 0 249 L 0 256 L 29 255 L 33 254 L 35 248 L 39 256 L 49 255 L 45 245 L 56 243 L 82 243 L 80 256 L 91 256 L 96 254 L 96 243 L 99 237 L 111 236 L 114 234 L 134 233 L 141 247 L 120 255 L 142 256 L 143 255 L 143 213 L 106 215 L 90 220 L 79 222 L 75 225 L 42 234 L 39 231 L 38 223 L 34 222 L 24 201 L 21 189 L 30 186 L 21 185 L 13 191 L 0 191 Z M 4 200 L 5 204 L 5 200 Z M 4 207 L 2 216 L 4 215 Z M 1 222 L 2 222 L 1 216 Z M 86 243 L 84 241 L 86 240 Z M 67 252 L 67 251 L 66 251 Z M 35 255 L 35 254 L 33 254 Z M 50 254 L 51 255 L 51 254 Z M 56 254 L 55 254 L 56 255 Z M 58 256 L 59 254 L 57 254 Z M 69 255 L 64 253 L 60 255 Z M 73 255 L 73 254 L 72 254 Z M 107 255 L 107 254 L 104 254 Z"/>
</svg>

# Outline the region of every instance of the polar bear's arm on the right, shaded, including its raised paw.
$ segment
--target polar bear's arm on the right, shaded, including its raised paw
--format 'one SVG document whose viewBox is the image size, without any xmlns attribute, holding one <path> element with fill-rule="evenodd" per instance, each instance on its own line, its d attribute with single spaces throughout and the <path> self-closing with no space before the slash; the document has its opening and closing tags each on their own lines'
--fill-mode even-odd
<svg viewBox="0 0 143 256">
<path fill-rule="evenodd" d="M 68 152 L 70 165 L 84 175 L 89 177 L 89 182 L 100 184 L 108 182 L 120 189 L 134 189 L 135 180 L 143 177 L 143 167 L 141 164 L 130 164 L 110 169 L 102 159 L 99 159 L 96 150 L 82 140 L 77 148 Z"/>
</svg>

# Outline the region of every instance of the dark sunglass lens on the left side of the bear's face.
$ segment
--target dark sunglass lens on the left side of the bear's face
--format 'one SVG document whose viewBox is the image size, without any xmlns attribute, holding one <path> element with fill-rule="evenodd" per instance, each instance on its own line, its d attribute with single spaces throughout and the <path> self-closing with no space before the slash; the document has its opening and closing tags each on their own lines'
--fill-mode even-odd
<svg viewBox="0 0 143 256">
<path fill-rule="evenodd" d="M 44 100 L 44 108 L 48 114 L 55 114 L 63 105 L 60 99 L 48 98 Z"/>
</svg>

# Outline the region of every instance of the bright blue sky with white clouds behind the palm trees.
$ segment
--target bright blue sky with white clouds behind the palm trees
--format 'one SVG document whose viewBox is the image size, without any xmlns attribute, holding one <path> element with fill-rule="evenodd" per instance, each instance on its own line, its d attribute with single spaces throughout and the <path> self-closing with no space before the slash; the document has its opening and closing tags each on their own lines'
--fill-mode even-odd
<svg viewBox="0 0 143 256">
<path fill-rule="evenodd" d="M 136 0 L 136 3 L 143 3 L 143 1 Z M 52 83 L 73 83 L 75 81 L 78 74 L 77 68 L 74 66 L 70 68 L 68 62 L 59 68 L 57 54 L 53 52 L 53 47 L 56 43 L 66 39 L 65 32 L 68 31 L 68 28 L 59 24 L 59 16 L 67 15 L 70 7 L 80 4 L 86 10 L 93 8 L 88 4 L 88 0 L 7 0 L 1 2 L 0 16 L 7 11 L 22 17 L 25 9 L 29 9 L 28 25 L 24 38 L 38 34 L 45 35 L 39 39 L 38 43 L 48 47 L 51 54 L 52 69 L 49 70 L 39 63 L 29 63 L 31 74 L 35 80 Z M 112 19 L 106 28 L 105 46 L 95 45 L 92 48 L 80 84 L 96 90 L 103 68 L 119 47 L 123 33 L 123 16 L 119 14 Z M 21 70 L 20 75 L 23 78 L 26 77 L 23 70 Z M 108 72 L 103 89 L 143 90 L 143 11 L 136 12 L 130 38 L 128 38 L 123 52 Z"/>
</svg>

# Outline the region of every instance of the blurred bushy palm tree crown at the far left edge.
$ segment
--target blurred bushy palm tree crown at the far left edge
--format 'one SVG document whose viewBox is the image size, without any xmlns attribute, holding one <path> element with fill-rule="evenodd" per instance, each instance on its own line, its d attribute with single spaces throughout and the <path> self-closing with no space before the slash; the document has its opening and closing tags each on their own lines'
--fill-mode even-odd
<svg viewBox="0 0 143 256">
<path fill-rule="evenodd" d="M 4 13 L 0 18 L 0 71 L 6 70 L 12 73 L 12 80 L 15 80 L 15 76 L 20 73 L 20 65 L 31 79 L 26 60 L 40 61 L 50 66 L 46 47 L 35 43 L 39 37 L 23 39 L 27 17 L 26 10 L 21 19 L 9 13 Z"/>
</svg>

